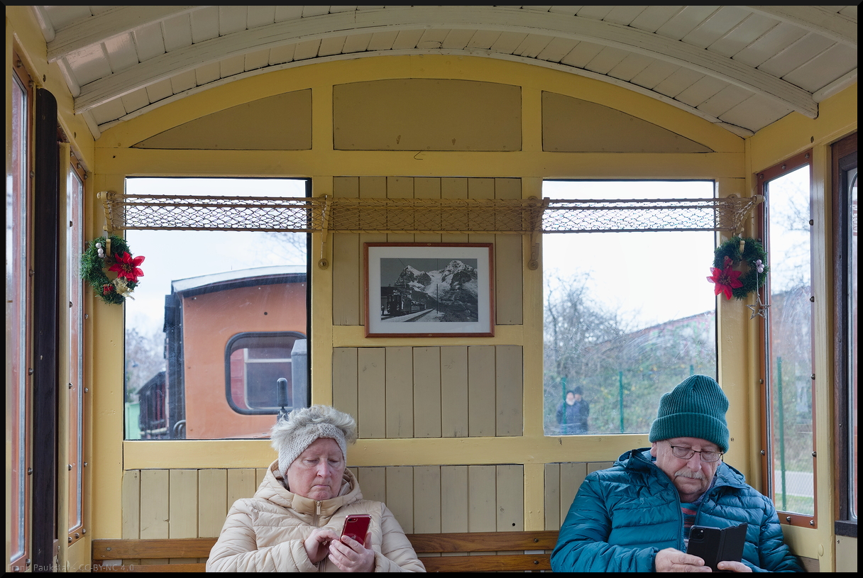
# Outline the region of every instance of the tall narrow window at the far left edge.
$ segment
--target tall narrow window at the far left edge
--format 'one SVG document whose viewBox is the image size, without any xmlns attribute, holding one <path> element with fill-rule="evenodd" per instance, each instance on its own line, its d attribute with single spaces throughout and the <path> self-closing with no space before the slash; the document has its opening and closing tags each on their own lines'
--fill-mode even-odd
<svg viewBox="0 0 863 578">
<path fill-rule="evenodd" d="M 30 395 L 33 389 L 29 368 L 31 311 L 32 239 L 29 221 L 32 190 L 29 178 L 32 158 L 33 82 L 27 70 L 13 53 L 12 93 L 10 95 L 11 172 L 6 188 L 6 443 L 10 465 L 7 494 L 7 552 L 9 569 L 26 570 L 30 564 L 28 535 L 31 525 L 30 504 Z M 7 161 L 9 162 L 9 161 Z M 9 165 L 7 165 L 9 166 Z"/>
</svg>

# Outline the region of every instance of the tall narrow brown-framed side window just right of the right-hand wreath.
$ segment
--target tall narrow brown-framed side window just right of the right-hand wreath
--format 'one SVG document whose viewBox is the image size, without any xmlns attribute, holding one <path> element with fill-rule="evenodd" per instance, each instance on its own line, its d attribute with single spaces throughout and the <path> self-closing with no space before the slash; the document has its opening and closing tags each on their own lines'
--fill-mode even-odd
<svg viewBox="0 0 863 578">
<path fill-rule="evenodd" d="M 759 173 L 763 244 L 770 255 L 764 302 L 765 471 L 786 522 L 816 524 L 813 430 L 811 153 Z"/>
</svg>

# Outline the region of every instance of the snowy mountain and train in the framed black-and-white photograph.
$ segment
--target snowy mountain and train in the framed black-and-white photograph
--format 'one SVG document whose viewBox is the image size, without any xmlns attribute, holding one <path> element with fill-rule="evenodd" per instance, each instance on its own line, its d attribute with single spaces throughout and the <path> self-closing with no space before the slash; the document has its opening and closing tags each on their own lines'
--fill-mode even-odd
<svg viewBox="0 0 863 578">
<path fill-rule="evenodd" d="M 389 289 L 391 294 L 384 306 L 385 311 L 381 311 L 382 318 L 425 311 L 423 315 L 405 321 L 479 320 L 476 268 L 462 261 L 450 261 L 449 265 L 437 271 L 419 271 L 408 265 Z"/>
</svg>

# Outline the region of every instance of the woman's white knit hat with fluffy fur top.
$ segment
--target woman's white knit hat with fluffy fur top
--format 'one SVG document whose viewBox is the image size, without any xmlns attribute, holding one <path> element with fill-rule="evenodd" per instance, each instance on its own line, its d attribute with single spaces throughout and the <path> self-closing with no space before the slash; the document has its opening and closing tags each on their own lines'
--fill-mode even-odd
<svg viewBox="0 0 863 578">
<path fill-rule="evenodd" d="M 356 441 L 356 421 L 329 405 L 293 410 L 270 430 L 270 444 L 279 452 L 279 472 L 285 474 L 297 457 L 320 437 L 329 437 L 348 461 L 348 443 Z"/>
</svg>

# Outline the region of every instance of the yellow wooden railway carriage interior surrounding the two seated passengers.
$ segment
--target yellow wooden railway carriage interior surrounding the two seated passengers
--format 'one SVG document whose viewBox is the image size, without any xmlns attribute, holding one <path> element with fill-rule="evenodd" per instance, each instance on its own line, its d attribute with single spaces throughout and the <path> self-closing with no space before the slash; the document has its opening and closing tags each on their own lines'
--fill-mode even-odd
<svg viewBox="0 0 863 578">
<path fill-rule="evenodd" d="M 805 568 L 856 571 L 857 6 L 7 6 L 5 39 L 8 571 L 214 539 L 310 404 L 408 535 L 557 531 L 690 374 Z M 711 282 L 738 241 L 750 285 Z"/>
</svg>

